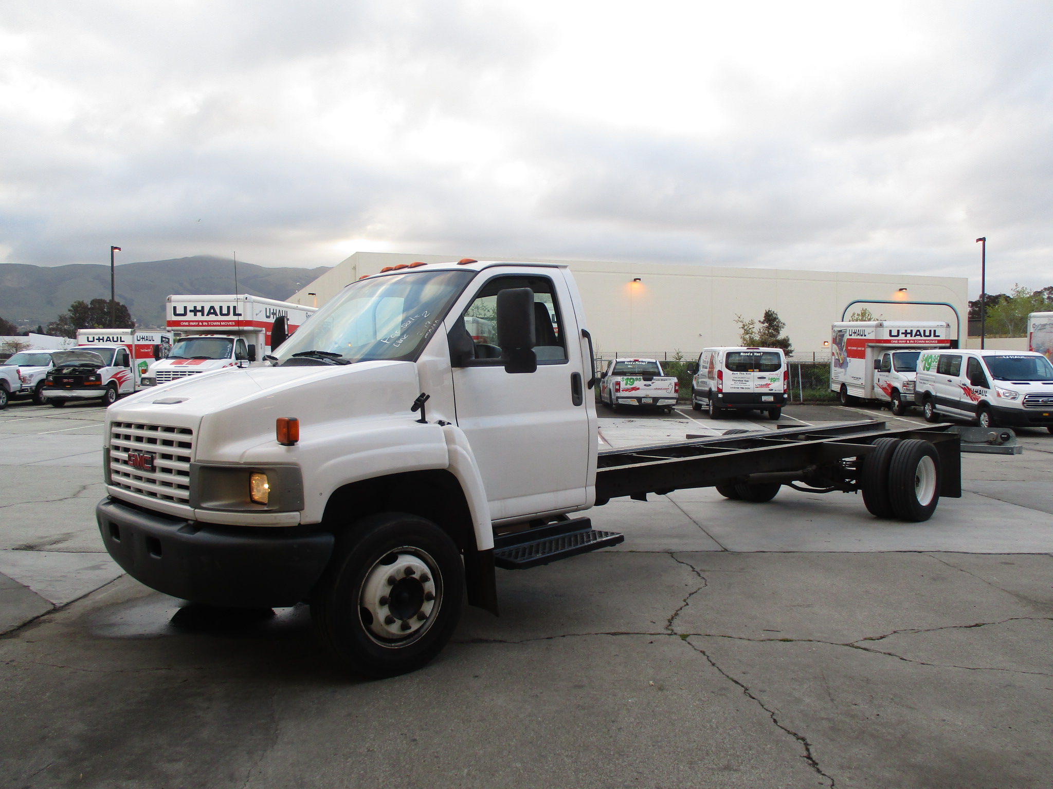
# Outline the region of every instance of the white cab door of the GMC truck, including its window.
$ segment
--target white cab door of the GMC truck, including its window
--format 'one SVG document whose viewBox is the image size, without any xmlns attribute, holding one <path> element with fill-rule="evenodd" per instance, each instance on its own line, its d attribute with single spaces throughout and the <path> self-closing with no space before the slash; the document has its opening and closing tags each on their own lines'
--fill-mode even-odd
<svg viewBox="0 0 1053 789">
<path fill-rule="evenodd" d="M 446 322 L 457 424 L 475 453 L 495 521 L 584 507 L 592 498 L 597 436 L 584 388 L 589 362 L 565 282 L 535 271 L 477 278 L 483 281 Z M 497 294 L 523 287 L 534 292 L 537 369 L 511 373 L 496 333 Z"/>
</svg>

